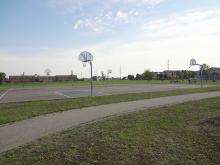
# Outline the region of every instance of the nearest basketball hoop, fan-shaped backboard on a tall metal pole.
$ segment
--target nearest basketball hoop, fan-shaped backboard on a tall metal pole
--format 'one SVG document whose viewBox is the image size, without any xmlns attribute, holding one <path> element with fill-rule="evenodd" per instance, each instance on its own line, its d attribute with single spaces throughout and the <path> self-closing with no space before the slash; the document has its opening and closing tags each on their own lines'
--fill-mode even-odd
<svg viewBox="0 0 220 165">
<path fill-rule="evenodd" d="M 79 60 L 83 62 L 83 66 L 86 67 L 86 63 L 88 62 L 90 64 L 90 70 L 91 70 L 91 97 L 93 96 L 93 74 L 92 74 L 92 61 L 93 61 L 93 56 L 91 53 L 84 51 L 79 54 Z"/>
</svg>

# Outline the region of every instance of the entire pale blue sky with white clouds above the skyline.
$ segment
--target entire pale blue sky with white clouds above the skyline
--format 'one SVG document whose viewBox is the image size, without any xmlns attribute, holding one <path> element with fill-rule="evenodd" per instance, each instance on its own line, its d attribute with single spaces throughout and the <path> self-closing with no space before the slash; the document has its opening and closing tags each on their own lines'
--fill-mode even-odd
<svg viewBox="0 0 220 165">
<path fill-rule="evenodd" d="M 82 51 L 94 75 L 220 67 L 220 1 L 0 0 L 1 72 L 88 77 Z"/>
</svg>

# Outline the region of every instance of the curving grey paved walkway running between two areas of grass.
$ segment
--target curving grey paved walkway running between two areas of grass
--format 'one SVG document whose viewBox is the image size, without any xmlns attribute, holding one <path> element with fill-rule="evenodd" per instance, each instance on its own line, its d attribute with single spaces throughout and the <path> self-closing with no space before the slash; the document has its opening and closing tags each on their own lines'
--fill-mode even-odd
<svg viewBox="0 0 220 165">
<path fill-rule="evenodd" d="M 103 117 L 220 96 L 219 92 L 123 102 L 48 114 L 0 127 L 0 152 Z"/>
</svg>

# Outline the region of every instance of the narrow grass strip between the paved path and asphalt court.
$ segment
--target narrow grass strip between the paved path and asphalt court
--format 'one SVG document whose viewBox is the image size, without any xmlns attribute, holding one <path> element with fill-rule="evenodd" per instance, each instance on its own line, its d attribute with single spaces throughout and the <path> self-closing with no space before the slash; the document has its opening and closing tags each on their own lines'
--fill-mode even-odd
<svg viewBox="0 0 220 165">
<path fill-rule="evenodd" d="M 131 93 L 110 96 L 85 97 L 76 99 L 50 100 L 50 101 L 31 101 L 20 103 L 0 104 L 0 125 L 19 120 L 24 120 L 53 112 L 61 112 L 70 109 L 78 109 L 102 104 L 128 102 L 141 99 L 182 95 L 197 92 L 220 91 L 220 87 L 203 89 L 178 89 L 166 92 L 147 92 Z"/>
</svg>

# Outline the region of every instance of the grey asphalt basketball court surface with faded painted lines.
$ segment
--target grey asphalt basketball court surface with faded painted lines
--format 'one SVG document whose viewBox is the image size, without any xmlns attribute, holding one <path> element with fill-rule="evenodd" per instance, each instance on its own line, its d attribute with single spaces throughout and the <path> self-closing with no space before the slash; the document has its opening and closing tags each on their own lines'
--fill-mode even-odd
<svg viewBox="0 0 220 165">
<path fill-rule="evenodd" d="M 152 85 L 110 85 L 95 86 L 94 96 L 124 93 L 170 91 L 175 89 L 199 88 L 200 85 L 188 84 L 152 84 Z M 208 86 L 205 86 L 208 87 Z M 90 96 L 90 87 L 48 87 L 35 89 L 9 89 L 0 93 L 0 103 L 23 102 L 33 100 L 52 100 Z"/>
</svg>

